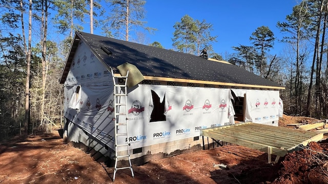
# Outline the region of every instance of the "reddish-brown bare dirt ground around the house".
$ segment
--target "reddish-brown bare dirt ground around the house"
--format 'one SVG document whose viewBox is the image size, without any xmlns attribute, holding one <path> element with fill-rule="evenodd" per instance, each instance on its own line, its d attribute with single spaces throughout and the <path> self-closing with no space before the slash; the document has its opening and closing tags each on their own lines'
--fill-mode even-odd
<svg viewBox="0 0 328 184">
<path fill-rule="evenodd" d="M 318 120 L 284 116 L 279 126 Z M 268 163 L 268 154 L 237 145 L 186 152 L 118 170 L 83 149 L 64 144 L 58 132 L 0 143 L 0 183 L 328 183 L 328 140 Z M 274 159 L 274 157 L 273 157 Z"/>
</svg>

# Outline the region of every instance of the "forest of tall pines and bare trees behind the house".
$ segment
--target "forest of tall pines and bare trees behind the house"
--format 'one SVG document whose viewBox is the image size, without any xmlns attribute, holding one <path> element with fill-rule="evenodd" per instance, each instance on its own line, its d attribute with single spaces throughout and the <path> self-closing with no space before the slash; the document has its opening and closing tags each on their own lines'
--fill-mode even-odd
<svg viewBox="0 0 328 184">
<path fill-rule="evenodd" d="M 146 44 L 145 4 L 141 0 L 0 0 L 0 140 L 15 134 L 63 126 L 63 85 L 59 84 L 76 30 L 89 22 L 101 35 Z M 226 60 L 275 81 L 284 113 L 326 119 L 328 114 L 327 0 L 304 0 L 276 27 L 284 33 L 282 54 L 271 55 L 276 41 L 267 26 L 254 28 L 249 45 L 232 54 L 216 53 L 213 24 L 182 16 L 172 27 L 172 50 Z M 260 16 L 260 15 L 259 15 Z M 37 31 L 36 31 L 37 30 Z M 51 36 L 53 32 L 63 39 Z M 149 43 L 163 48 L 161 43 Z M 306 64 L 311 63 L 311 64 Z"/>
</svg>

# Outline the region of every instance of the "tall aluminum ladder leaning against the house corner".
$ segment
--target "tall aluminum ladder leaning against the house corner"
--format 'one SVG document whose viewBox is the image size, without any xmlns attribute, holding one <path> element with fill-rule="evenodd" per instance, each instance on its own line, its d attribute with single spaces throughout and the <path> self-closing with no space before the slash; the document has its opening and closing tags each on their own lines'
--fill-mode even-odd
<svg viewBox="0 0 328 184">
<path fill-rule="evenodd" d="M 129 129 L 128 129 L 128 107 L 127 107 L 127 97 L 128 97 L 128 91 L 127 91 L 127 81 L 128 81 L 128 75 L 129 71 L 127 71 L 126 76 L 114 76 L 113 69 L 112 71 L 112 76 L 113 76 L 113 82 L 114 82 L 114 122 L 115 122 L 115 168 L 114 168 L 114 176 L 113 176 L 113 181 L 115 180 L 115 175 L 117 170 L 121 169 L 130 169 L 132 173 L 132 177 L 134 178 L 134 173 L 132 169 L 132 164 L 131 164 L 131 158 L 130 158 L 130 142 L 129 142 Z M 124 84 L 121 84 L 121 82 L 124 82 Z M 122 93 L 121 93 L 122 91 Z M 123 100 L 125 100 L 123 102 Z M 124 112 L 119 112 L 120 107 L 124 107 Z M 118 122 L 120 121 L 120 122 Z M 119 129 L 126 130 L 123 133 L 120 132 L 118 133 Z M 118 144 L 118 137 L 120 140 L 122 137 L 127 140 L 125 144 Z M 128 154 L 127 155 L 120 155 L 118 151 L 118 147 L 126 147 L 128 149 Z M 117 167 L 117 161 L 119 158 L 124 158 L 128 157 L 129 159 L 129 165 L 128 167 Z"/>
</svg>

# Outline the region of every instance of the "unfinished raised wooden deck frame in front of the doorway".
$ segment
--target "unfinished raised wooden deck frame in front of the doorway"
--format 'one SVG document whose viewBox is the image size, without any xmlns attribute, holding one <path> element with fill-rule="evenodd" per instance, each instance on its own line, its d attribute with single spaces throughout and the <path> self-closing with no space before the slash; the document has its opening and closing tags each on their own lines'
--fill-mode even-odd
<svg viewBox="0 0 328 184">
<path fill-rule="evenodd" d="M 306 146 L 309 142 L 317 142 L 323 138 L 323 133 L 320 132 L 258 123 L 240 123 L 202 129 L 200 135 L 266 152 L 269 163 L 272 163 L 271 154 L 279 158 L 301 145 Z M 277 161 L 276 159 L 275 162 Z"/>
</svg>

